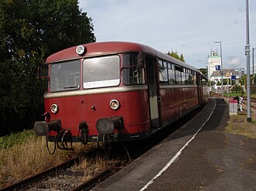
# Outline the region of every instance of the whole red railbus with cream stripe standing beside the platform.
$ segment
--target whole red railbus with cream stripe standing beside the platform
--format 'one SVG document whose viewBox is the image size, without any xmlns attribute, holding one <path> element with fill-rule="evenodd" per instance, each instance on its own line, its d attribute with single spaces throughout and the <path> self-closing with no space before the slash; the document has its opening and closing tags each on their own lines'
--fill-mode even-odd
<svg viewBox="0 0 256 191">
<path fill-rule="evenodd" d="M 45 65 L 45 118 L 34 130 L 60 148 L 147 138 L 208 100 L 199 70 L 139 43 L 74 46 Z"/>
</svg>

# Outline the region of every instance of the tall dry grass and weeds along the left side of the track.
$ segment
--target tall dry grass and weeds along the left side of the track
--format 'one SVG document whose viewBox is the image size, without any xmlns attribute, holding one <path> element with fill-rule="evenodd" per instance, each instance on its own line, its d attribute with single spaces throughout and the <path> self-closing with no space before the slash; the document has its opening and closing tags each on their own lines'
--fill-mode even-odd
<svg viewBox="0 0 256 191">
<path fill-rule="evenodd" d="M 57 149 L 54 155 L 50 155 L 46 138 L 37 137 L 33 131 L 10 137 L 0 139 L 0 188 L 60 164 L 85 150 L 78 143 L 74 144 L 76 152 Z M 54 144 L 50 143 L 50 149 L 54 149 Z"/>
</svg>

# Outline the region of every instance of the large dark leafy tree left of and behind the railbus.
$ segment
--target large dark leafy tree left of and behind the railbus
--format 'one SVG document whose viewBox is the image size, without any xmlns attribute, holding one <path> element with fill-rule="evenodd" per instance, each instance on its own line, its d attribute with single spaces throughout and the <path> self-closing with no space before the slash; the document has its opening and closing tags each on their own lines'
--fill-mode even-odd
<svg viewBox="0 0 256 191">
<path fill-rule="evenodd" d="M 78 0 L 0 2 L 0 136 L 33 124 L 43 111 L 37 67 L 52 53 L 95 42 Z"/>
</svg>

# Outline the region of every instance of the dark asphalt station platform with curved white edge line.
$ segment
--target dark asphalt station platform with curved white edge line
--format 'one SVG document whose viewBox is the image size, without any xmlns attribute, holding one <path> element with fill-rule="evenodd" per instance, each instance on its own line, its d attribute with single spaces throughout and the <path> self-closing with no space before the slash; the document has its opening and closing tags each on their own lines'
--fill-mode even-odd
<svg viewBox="0 0 256 191">
<path fill-rule="evenodd" d="M 229 107 L 209 103 L 187 124 L 92 190 L 256 190 L 256 140 L 225 132 Z"/>
</svg>

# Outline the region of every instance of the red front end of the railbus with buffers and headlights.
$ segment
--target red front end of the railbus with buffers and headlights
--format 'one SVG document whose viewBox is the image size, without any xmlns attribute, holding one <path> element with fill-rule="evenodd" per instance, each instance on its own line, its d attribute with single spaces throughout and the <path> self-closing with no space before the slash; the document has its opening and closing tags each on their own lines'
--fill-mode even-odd
<svg viewBox="0 0 256 191">
<path fill-rule="evenodd" d="M 87 53 L 75 56 L 79 47 L 73 47 L 47 59 L 46 112 L 34 130 L 61 142 L 59 148 L 67 148 L 67 142 L 123 142 L 150 135 L 141 53 L 101 54 L 94 48 L 88 45 Z M 62 59 L 67 54 L 74 58 Z"/>
</svg>

